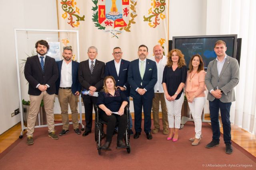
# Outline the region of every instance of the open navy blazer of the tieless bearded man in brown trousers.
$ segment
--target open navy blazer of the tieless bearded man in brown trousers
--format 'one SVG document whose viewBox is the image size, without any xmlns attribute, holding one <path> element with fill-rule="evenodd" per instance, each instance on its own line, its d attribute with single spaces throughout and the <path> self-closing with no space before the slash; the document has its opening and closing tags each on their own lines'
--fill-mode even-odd
<svg viewBox="0 0 256 170">
<path fill-rule="evenodd" d="M 75 94 L 77 91 L 81 91 L 81 84 L 78 80 L 78 67 L 79 63 L 76 61 L 71 61 L 72 62 L 72 86 L 71 86 L 71 91 L 73 94 Z M 58 95 L 59 88 L 60 88 L 60 78 L 61 78 L 61 67 L 63 60 L 57 61 L 57 66 L 58 66 L 58 71 L 59 71 L 59 78 L 56 81 L 56 93 Z"/>
</svg>

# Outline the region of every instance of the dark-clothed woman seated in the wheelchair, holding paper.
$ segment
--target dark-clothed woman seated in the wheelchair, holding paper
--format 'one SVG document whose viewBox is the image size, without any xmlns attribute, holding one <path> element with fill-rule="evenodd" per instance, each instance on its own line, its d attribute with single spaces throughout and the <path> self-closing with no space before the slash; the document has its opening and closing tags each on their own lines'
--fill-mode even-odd
<svg viewBox="0 0 256 170">
<path fill-rule="evenodd" d="M 106 143 L 101 149 L 108 149 L 112 141 L 112 134 L 116 123 L 118 122 L 117 147 L 126 147 L 123 142 L 126 130 L 127 117 L 124 115 L 124 107 L 128 104 L 128 100 L 124 92 L 117 90 L 116 81 L 112 76 L 104 78 L 104 90 L 99 93 L 98 106 L 100 118 L 107 122 Z M 114 113 L 115 112 L 115 113 Z"/>
</svg>

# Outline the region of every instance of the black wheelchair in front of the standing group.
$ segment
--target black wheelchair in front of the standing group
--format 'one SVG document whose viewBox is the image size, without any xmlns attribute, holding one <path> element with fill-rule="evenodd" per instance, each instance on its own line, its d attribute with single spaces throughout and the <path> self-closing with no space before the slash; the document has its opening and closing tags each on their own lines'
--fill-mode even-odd
<svg viewBox="0 0 256 170">
<path fill-rule="evenodd" d="M 101 155 L 101 142 L 102 142 L 102 131 L 103 131 L 103 125 L 107 124 L 107 122 L 103 121 L 100 119 L 100 111 L 102 111 L 100 109 L 100 107 L 98 107 L 97 105 L 95 105 L 96 107 L 96 111 L 95 111 L 95 141 L 97 143 L 97 150 L 98 150 L 98 154 Z M 94 108 L 95 108 L 94 107 Z M 129 130 L 130 130 L 130 119 L 129 119 L 129 112 L 128 112 L 128 108 L 129 106 L 127 105 L 125 108 L 124 108 L 124 114 L 126 114 L 126 118 L 127 118 L 127 124 L 126 124 L 126 130 L 125 130 L 125 133 L 124 133 L 124 141 L 125 141 L 125 145 L 126 147 L 116 147 L 116 149 L 126 149 L 126 151 L 128 153 L 131 152 L 131 145 L 130 145 L 130 134 L 129 134 Z M 116 124 L 116 126 L 118 125 L 118 123 Z M 108 150 L 111 150 L 111 149 L 108 149 Z"/>
</svg>

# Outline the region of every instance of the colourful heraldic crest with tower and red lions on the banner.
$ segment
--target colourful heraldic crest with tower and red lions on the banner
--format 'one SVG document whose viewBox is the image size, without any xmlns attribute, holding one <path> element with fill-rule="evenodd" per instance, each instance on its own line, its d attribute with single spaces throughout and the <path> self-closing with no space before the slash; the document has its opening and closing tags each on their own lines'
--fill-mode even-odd
<svg viewBox="0 0 256 170">
<path fill-rule="evenodd" d="M 98 29 L 104 29 L 118 38 L 122 31 L 130 32 L 131 24 L 136 23 L 136 0 L 92 0 L 94 11 L 92 21 Z"/>
</svg>

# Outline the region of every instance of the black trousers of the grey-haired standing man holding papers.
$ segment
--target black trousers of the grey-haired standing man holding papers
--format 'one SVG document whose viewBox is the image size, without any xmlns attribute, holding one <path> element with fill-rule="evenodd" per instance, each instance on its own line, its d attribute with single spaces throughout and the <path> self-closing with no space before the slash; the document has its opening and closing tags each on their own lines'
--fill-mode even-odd
<svg viewBox="0 0 256 170">
<path fill-rule="evenodd" d="M 83 98 L 86 123 L 85 131 L 92 130 L 92 107 L 97 104 L 97 100 L 98 98 L 94 96 L 86 96 Z M 95 107 L 94 110 L 96 110 Z"/>
</svg>

